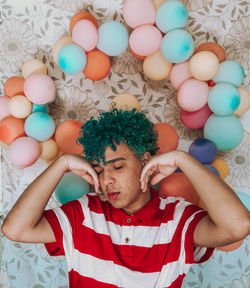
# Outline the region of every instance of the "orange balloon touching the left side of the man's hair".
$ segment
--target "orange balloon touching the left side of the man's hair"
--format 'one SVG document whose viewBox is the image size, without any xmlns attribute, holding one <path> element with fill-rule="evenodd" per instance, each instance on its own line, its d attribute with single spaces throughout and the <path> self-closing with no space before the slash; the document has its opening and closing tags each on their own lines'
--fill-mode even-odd
<svg viewBox="0 0 250 288">
<path fill-rule="evenodd" d="M 60 124 L 55 132 L 56 143 L 64 153 L 74 153 L 81 155 L 83 147 L 76 143 L 80 136 L 82 123 L 77 120 L 66 120 Z"/>
</svg>

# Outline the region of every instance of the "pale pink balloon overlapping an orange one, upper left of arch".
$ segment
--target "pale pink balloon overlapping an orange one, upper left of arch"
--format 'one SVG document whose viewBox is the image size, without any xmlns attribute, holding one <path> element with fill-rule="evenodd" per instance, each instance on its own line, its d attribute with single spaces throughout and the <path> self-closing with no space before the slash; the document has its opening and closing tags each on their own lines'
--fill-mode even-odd
<svg viewBox="0 0 250 288">
<path fill-rule="evenodd" d="M 72 40 L 88 52 L 95 49 L 98 43 L 98 31 L 89 20 L 78 21 L 72 30 Z"/>
</svg>

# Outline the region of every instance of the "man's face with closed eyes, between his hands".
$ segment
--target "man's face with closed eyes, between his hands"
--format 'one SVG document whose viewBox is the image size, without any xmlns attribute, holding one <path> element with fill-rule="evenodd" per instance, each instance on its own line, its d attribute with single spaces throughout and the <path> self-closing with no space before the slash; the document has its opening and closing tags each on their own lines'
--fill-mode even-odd
<svg viewBox="0 0 250 288">
<path fill-rule="evenodd" d="M 93 164 L 105 198 L 115 208 L 123 209 L 128 214 L 140 210 L 150 201 L 150 191 L 141 191 L 141 159 L 124 143 L 105 150 L 106 165 Z"/>
</svg>

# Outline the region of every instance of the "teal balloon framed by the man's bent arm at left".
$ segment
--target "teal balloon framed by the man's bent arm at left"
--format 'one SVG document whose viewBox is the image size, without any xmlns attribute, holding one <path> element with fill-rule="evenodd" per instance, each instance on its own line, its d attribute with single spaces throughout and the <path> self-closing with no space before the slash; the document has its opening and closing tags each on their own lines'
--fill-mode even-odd
<svg viewBox="0 0 250 288">
<path fill-rule="evenodd" d="M 82 177 L 72 172 L 64 174 L 55 189 L 56 199 L 61 203 L 67 203 L 79 199 L 89 193 L 89 183 Z"/>
</svg>

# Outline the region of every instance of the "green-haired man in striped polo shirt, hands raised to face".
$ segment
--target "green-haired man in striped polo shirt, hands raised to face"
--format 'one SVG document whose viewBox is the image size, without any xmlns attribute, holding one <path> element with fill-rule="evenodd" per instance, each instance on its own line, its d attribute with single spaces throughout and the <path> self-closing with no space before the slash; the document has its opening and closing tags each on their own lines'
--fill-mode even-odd
<svg viewBox="0 0 250 288">
<path fill-rule="evenodd" d="M 2 231 L 11 240 L 45 243 L 65 255 L 70 287 L 181 287 L 192 263 L 213 248 L 245 238 L 249 212 L 216 175 L 182 151 L 158 156 L 157 134 L 142 113 L 102 113 L 82 128 L 85 158 L 63 155 L 23 192 Z M 150 189 L 177 168 L 207 212 Z M 88 194 L 44 211 L 58 181 L 71 170 L 93 184 Z"/>
</svg>

